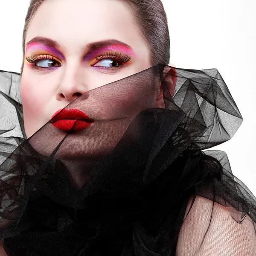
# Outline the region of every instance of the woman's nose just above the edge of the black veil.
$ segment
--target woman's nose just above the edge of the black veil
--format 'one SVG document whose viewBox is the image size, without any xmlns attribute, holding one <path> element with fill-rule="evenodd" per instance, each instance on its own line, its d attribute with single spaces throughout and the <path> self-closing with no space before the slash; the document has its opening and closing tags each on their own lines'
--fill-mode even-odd
<svg viewBox="0 0 256 256">
<path fill-rule="evenodd" d="M 78 70 L 66 70 L 59 81 L 59 87 L 56 93 L 57 100 L 73 101 L 81 94 L 87 91 L 84 84 L 84 77 Z"/>
</svg>

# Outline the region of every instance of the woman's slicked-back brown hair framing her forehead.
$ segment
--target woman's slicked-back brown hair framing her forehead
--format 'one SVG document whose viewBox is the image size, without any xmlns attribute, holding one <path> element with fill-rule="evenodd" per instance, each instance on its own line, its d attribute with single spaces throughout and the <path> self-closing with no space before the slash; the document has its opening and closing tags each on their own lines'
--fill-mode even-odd
<svg viewBox="0 0 256 256">
<path fill-rule="evenodd" d="M 45 0 L 31 0 L 25 18 L 23 29 L 23 61 L 21 74 L 23 72 L 25 55 L 25 38 L 31 20 L 36 11 Z M 148 49 L 150 49 L 149 60 L 152 66 L 155 64 L 168 64 L 170 59 L 170 37 L 167 24 L 166 12 L 160 0 L 121 0 L 131 9 L 135 22 L 139 25 L 145 38 Z"/>
</svg>

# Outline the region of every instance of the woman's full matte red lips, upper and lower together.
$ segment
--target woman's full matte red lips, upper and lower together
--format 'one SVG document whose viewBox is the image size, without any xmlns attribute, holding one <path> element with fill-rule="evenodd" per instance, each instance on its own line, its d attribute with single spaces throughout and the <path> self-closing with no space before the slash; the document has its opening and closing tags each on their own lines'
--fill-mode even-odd
<svg viewBox="0 0 256 256">
<path fill-rule="evenodd" d="M 60 112 L 60 113 L 59 113 Z M 78 109 L 60 109 L 52 115 L 50 121 L 55 128 L 63 131 L 79 131 L 91 125 L 90 119 L 85 113 Z"/>
</svg>

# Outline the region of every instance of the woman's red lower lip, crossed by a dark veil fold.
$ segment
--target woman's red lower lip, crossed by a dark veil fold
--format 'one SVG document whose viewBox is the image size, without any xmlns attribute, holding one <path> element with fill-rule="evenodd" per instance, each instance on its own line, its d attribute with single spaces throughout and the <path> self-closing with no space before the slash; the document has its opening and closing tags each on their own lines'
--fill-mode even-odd
<svg viewBox="0 0 256 256">
<path fill-rule="evenodd" d="M 84 128 L 87 128 L 91 124 L 92 122 L 86 122 L 84 120 L 77 119 L 62 119 L 52 123 L 55 128 L 58 128 L 62 131 L 80 131 Z"/>
</svg>

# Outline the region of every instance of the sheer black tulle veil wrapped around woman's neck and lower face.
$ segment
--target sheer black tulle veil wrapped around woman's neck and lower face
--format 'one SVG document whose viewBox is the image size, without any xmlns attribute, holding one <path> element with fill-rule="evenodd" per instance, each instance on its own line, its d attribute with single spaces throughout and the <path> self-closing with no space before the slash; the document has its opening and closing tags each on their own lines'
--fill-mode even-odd
<svg viewBox="0 0 256 256">
<path fill-rule="evenodd" d="M 9 256 L 175 255 L 190 195 L 241 212 L 236 223 L 256 222 L 256 198 L 227 154 L 206 150 L 243 120 L 217 69 L 157 64 L 65 109 L 96 113 L 94 127 L 61 131 L 49 120 L 27 138 L 20 74 L 0 71 L 0 236 Z"/>
</svg>

